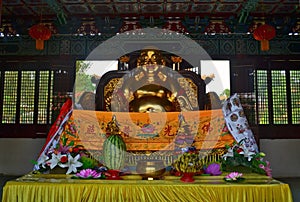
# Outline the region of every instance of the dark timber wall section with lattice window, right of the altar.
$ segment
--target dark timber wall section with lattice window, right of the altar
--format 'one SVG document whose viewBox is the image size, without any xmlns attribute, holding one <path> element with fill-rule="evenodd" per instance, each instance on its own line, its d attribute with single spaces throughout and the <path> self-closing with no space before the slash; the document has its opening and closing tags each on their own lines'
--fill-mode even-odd
<svg viewBox="0 0 300 202">
<path fill-rule="evenodd" d="M 231 94 L 238 93 L 259 138 L 300 138 L 299 60 L 252 58 L 232 64 Z"/>
</svg>

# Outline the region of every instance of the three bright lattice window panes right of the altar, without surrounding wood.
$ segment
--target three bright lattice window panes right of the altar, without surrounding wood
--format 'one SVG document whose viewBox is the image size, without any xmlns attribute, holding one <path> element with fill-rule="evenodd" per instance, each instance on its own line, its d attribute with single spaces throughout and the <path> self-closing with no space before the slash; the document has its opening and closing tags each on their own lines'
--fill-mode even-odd
<svg viewBox="0 0 300 202">
<path fill-rule="evenodd" d="M 257 70 L 258 124 L 300 123 L 300 70 Z"/>
</svg>

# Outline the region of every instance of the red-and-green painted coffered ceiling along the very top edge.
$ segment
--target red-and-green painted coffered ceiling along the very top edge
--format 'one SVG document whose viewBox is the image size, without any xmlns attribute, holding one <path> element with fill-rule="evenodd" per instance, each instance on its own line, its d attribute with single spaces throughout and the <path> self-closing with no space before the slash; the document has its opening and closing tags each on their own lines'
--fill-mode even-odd
<svg viewBox="0 0 300 202">
<path fill-rule="evenodd" d="M 250 11 L 254 16 L 261 16 L 262 13 L 300 15 L 299 0 L 2 0 L 2 3 L 2 19 L 9 18 L 10 15 L 38 15 L 38 7 L 52 10 L 53 14 L 50 12 L 48 15 L 54 16 L 60 10 L 70 16 L 85 14 L 89 17 L 93 14 L 103 17 L 124 14 L 141 16 L 145 12 L 160 16 L 174 14 L 174 17 L 179 14 L 181 17 L 191 14 L 214 14 L 224 17 L 223 15 L 228 16 L 230 13 L 237 16 L 238 11 L 249 6 L 256 7 Z M 103 10 L 104 8 L 108 10 Z M 35 12 L 30 12 L 31 10 Z"/>
</svg>

